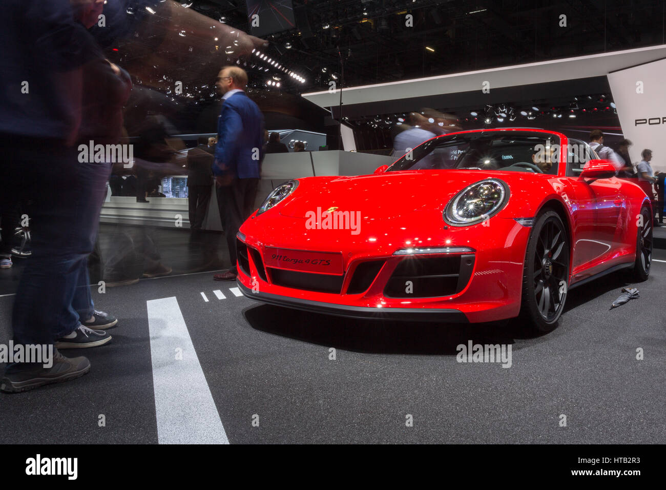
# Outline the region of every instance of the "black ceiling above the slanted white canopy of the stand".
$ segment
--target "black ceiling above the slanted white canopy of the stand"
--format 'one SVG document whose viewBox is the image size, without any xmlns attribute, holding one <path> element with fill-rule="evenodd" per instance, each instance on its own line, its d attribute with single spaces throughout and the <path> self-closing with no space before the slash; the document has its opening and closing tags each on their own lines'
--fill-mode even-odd
<svg viewBox="0 0 666 490">
<path fill-rule="evenodd" d="M 190 8 L 250 32 L 245 0 Z M 368 85 L 662 44 L 664 9 L 664 0 L 294 0 L 296 27 L 265 37 L 265 52 L 305 78 L 282 87 L 302 93 L 339 77 L 338 47 L 344 85 Z"/>
</svg>

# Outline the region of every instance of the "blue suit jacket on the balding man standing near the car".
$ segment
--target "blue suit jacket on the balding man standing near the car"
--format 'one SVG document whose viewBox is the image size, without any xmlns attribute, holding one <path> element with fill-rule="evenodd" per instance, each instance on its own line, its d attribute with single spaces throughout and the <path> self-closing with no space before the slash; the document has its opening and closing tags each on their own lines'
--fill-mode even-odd
<svg viewBox="0 0 666 490">
<path fill-rule="evenodd" d="M 234 93 L 222 104 L 217 133 L 213 173 L 258 179 L 264 159 L 264 116 L 244 92 Z"/>
</svg>

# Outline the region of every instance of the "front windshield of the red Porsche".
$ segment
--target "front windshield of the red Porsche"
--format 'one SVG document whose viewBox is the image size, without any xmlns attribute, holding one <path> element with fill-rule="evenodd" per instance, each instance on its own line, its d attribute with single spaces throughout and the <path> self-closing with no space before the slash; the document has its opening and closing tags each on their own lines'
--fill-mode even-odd
<svg viewBox="0 0 666 490">
<path fill-rule="evenodd" d="M 433 138 L 388 171 L 476 169 L 557 175 L 559 137 L 537 131 L 476 131 Z"/>
</svg>

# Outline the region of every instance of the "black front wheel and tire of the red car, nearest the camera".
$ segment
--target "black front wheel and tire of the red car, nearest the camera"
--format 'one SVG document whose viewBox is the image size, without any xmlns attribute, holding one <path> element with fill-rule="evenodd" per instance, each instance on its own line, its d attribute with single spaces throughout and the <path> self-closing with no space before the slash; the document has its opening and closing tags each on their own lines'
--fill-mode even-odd
<svg viewBox="0 0 666 490">
<path fill-rule="evenodd" d="M 519 317 L 535 333 L 557 327 L 569 289 L 569 235 L 555 211 L 539 214 L 525 251 Z"/>
</svg>

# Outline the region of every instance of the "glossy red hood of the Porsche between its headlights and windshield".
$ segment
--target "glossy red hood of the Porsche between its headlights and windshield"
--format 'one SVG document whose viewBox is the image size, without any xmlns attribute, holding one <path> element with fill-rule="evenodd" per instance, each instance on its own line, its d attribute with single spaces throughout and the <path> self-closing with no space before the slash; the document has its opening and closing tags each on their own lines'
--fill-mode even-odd
<svg viewBox="0 0 666 490">
<path fill-rule="evenodd" d="M 516 175 L 517 174 L 517 175 Z M 382 219 L 419 211 L 444 211 L 446 204 L 465 187 L 496 178 L 509 184 L 517 179 L 543 178 L 527 172 L 463 170 L 400 171 L 359 177 L 308 177 L 302 179 L 294 197 L 280 209 L 283 216 L 305 218 L 306 213 L 360 211 L 362 218 Z"/>
</svg>

